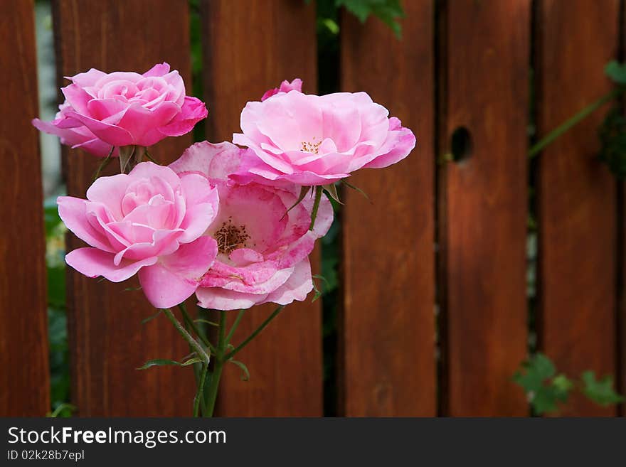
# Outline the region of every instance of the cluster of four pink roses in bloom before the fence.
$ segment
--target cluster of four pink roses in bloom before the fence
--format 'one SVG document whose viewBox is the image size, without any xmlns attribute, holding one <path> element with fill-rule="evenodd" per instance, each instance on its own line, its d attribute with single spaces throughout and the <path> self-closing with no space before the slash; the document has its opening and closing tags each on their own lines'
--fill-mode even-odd
<svg viewBox="0 0 626 467">
<path fill-rule="evenodd" d="M 92 69 L 70 80 L 57 117 L 33 124 L 96 156 L 185 134 L 207 114 L 166 63 L 143 75 Z M 158 308 L 193 294 L 218 310 L 304 300 L 309 254 L 333 220 L 322 190 L 415 146 L 365 92 L 306 95 L 298 79 L 248 102 L 241 131 L 232 143 L 194 144 L 169 166 L 137 161 L 129 173 L 97 178 L 86 199 L 58 198 L 63 222 L 89 245 L 67 263 L 115 282 L 137 274 Z"/>
</svg>

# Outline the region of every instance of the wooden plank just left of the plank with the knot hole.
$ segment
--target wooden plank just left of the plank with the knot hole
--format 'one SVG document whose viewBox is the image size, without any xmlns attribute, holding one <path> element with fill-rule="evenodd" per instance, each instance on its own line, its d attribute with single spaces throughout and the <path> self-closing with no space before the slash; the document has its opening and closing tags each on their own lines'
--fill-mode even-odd
<svg viewBox="0 0 626 467">
<path fill-rule="evenodd" d="M 436 414 L 433 7 L 404 3 L 401 41 L 376 18 L 341 23 L 341 90 L 368 92 L 418 138 L 405 161 L 351 177 L 372 203 L 344 190 L 346 416 Z"/>
</svg>

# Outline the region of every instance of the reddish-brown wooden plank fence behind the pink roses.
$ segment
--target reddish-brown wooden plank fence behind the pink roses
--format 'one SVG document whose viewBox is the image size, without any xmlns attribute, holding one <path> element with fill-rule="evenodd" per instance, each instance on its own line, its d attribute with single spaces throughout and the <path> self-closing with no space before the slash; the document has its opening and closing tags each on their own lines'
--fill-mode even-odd
<svg viewBox="0 0 626 467">
<path fill-rule="evenodd" d="M 619 0 L 405 0 L 403 38 L 376 19 L 341 18 L 341 90 L 365 90 L 418 136 L 408 159 L 361 171 L 341 212 L 337 413 L 346 416 L 524 416 L 511 375 L 529 336 L 529 178 L 539 220 L 539 349 L 573 375 L 611 373 L 626 388 L 623 187 L 597 160 L 601 112 L 531 166 L 541 137 L 610 89 Z M 185 0 L 55 0 L 59 77 L 88 68 L 144 70 L 167 61 L 191 81 Z M 239 112 L 283 79 L 317 87 L 315 9 L 302 0 L 203 0 L 203 93 L 210 141 L 237 131 Z M 33 4 L 0 2 L 0 415 L 49 409 L 42 191 Z M 533 73 L 531 74 L 531 70 Z M 60 79 L 61 83 L 62 80 Z M 529 92 L 532 83 L 533 93 Z M 529 117 L 529 115 L 531 117 Z M 441 162 L 458 128 L 461 161 Z M 171 161 L 191 135 L 154 149 Z M 66 151 L 70 195 L 97 161 Z M 532 167 L 532 170 L 531 170 Z M 68 247 L 80 245 L 68 237 Z M 317 254 L 319 259 L 319 254 Z M 318 260 L 316 260 L 319 262 Z M 68 270 L 72 402 L 80 416 L 188 415 L 193 375 L 139 372 L 185 345 L 128 284 Z M 245 336 L 267 316 L 247 316 Z M 287 308 L 226 372 L 225 416 L 322 415 L 322 308 Z M 574 399 L 566 414 L 616 415 Z"/>
</svg>

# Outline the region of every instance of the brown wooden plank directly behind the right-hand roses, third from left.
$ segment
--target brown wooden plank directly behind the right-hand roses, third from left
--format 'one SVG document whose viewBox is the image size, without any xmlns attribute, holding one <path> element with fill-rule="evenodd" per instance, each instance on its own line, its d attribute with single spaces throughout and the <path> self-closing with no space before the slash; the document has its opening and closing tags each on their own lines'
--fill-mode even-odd
<svg viewBox="0 0 626 467">
<path fill-rule="evenodd" d="M 205 95 L 210 107 L 207 136 L 230 141 L 249 100 L 282 80 L 301 77 L 304 91 L 317 87 L 315 7 L 303 1 L 239 2 L 204 0 Z M 314 269 L 319 255 L 314 254 Z M 322 337 L 320 304 L 292 304 L 263 331 L 238 360 L 250 369 L 224 371 L 217 412 L 228 416 L 315 416 L 322 414 Z M 273 306 L 248 312 L 235 341 L 245 338 Z M 235 313 L 231 313 L 233 316 Z M 233 318 L 231 316 L 231 318 Z"/>
</svg>

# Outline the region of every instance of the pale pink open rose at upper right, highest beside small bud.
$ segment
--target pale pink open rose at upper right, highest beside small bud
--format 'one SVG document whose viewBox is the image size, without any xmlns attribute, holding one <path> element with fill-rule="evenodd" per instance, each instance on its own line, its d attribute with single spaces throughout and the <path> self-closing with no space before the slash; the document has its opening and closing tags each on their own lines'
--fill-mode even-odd
<svg viewBox="0 0 626 467">
<path fill-rule="evenodd" d="M 279 92 L 263 102 L 248 102 L 241 129 L 233 142 L 253 150 L 236 174 L 241 181 L 260 177 L 326 185 L 359 168 L 390 166 L 415 147 L 410 129 L 388 118 L 388 110 L 365 92 Z"/>
</svg>

